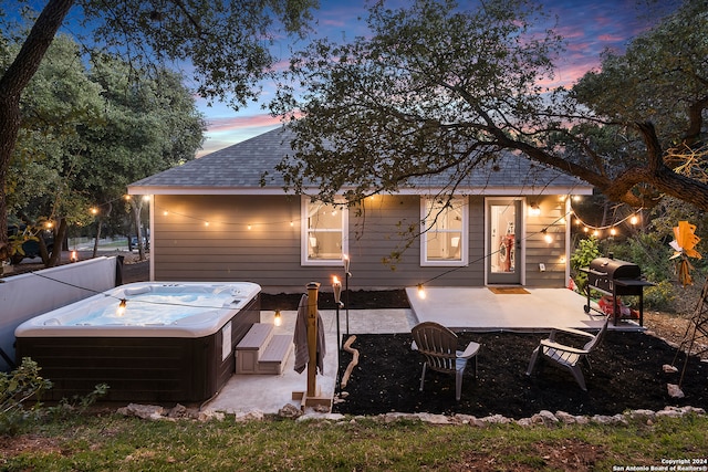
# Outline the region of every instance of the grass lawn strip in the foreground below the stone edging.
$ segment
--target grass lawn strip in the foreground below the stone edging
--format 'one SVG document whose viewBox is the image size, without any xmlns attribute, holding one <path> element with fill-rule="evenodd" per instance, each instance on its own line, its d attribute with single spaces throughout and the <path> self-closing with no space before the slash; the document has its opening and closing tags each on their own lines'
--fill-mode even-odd
<svg viewBox="0 0 708 472">
<path fill-rule="evenodd" d="M 554 428 L 386 423 L 363 417 L 339 422 L 271 419 L 237 423 L 232 419 L 169 422 L 117 415 L 76 416 L 0 438 L 0 470 L 649 470 L 676 460 L 705 466 L 707 430 L 708 417 L 696 415 L 629 420 L 612 427 Z"/>
</svg>

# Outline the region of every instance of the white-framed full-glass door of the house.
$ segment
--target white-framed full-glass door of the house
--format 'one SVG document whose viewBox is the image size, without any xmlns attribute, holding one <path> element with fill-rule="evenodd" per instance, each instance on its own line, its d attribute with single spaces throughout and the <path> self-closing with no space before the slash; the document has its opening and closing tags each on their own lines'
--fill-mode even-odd
<svg viewBox="0 0 708 472">
<path fill-rule="evenodd" d="M 521 200 L 487 200 L 487 283 L 521 284 Z"/>
</svg>

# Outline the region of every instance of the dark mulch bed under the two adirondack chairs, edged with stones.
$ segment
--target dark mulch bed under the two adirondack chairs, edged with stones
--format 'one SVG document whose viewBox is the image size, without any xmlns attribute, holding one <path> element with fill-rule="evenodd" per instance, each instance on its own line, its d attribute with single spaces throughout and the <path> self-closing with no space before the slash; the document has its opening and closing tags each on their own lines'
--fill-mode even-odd
<svg viewBox="0 0 708 472">
<path fill-rule="evenodd" d="M 481 344 L 478 377 L 468 365 L 462 397 L 455 401 L 455 377 L 429 371 L 419 391 L 421 356 L 410 350 L 410 334 L 357 335 L 354 348 L 360 364 L 345 391 L 346 401 L 335 411 L 378 415 L 392 411 L 466 413 L 476 417 L 502 415 L 528 418 L 540 410 L 572 415 L 615 415 L 627 409 L 660 410 L 666 406 L 708 409 L 708 364 L 690 358 L 681 389 L 684 399 L 670 398 L 667 384 L 678 384 L 678 374 L 664 374 L 676 349 L 643 333 L 608 332 L 593 353 L 592 374 L 585 370 L 589 391 L 582 391 L 570 373 L 541 364 L 532 377 L 525 375 L 531 352 L 543 334 L 460 333 L 460 343 Z M 341 373 L 352 356 L 343 352 Z"/>
</svg>

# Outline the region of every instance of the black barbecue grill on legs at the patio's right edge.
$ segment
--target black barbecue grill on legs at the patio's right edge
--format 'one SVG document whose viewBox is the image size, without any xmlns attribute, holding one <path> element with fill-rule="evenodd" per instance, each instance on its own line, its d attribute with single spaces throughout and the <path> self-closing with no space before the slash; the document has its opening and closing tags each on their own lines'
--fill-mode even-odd
<svg viewBox="0 0 708 472">
<path fill-rule="evenodd" d="M 617 297 L 637 296 L 639 301 L 639 326 L 644 326 L 644 287 L 654 284 L 642 279 L 642 271 L 638 265 L 613 258 L 597 258 L 593 259 L 587 269 L 581 269 L 581 271 L 587 274 L 585 313 L 591 311 L 591 292 L 595 291 L 603 295 L 611 295 L 613 303 L 612 315 L 616 325 L 617 319 L 622 317 Z"/>
</svg>

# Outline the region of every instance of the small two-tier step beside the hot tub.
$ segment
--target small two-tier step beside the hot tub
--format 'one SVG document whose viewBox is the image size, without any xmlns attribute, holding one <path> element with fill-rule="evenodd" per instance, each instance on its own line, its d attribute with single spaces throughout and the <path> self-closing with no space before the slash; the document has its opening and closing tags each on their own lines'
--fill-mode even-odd
<svg viewBox="0 0 708 472">
<path fill-rule="evenodd" d="M 280 375 L 292 352 L 290 335 L 273 335 L 273 326 L 254 323 L 236 346 L 236 374 Z"/>
</svg>

